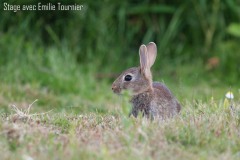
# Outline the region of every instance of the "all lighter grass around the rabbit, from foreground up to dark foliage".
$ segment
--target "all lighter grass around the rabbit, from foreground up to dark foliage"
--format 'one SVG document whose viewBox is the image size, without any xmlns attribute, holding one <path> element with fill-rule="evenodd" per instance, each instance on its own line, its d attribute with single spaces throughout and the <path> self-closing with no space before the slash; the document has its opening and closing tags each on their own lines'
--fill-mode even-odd
<svg viewBox="0 0 240 160">
<path fill-rule="evenodd" d="M 111 91 L 113 66 L 79 64 L 64 45 L 10 41 L 20 47 L 5 47 L 14 58 L 1 59 L 1 159 L 239 159 L 239 84 L 224 84 L 202 63 L 157 60 L 164 67 L 153 67 L 154 80 L 184 107 L 150 122 L 128 118 L 128 98 Z"/>
</svg>

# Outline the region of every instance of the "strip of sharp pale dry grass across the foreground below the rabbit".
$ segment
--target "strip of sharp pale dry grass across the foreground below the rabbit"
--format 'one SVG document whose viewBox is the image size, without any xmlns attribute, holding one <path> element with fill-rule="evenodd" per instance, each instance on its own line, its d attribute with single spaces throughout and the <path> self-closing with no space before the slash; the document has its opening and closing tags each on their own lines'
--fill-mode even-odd
<svg viewBox="0 0 240 160">
<path fill-rule="evenodd" d="M 186 103 L 178 117 L 161 122 L 128 118 L 122 113 L 30 114 L 32 104 L 26 111 L 15 106 L 14 113 L 0 123 L 1 157 L 239 159 L 239 105 L 234 104 L 231 113 L 221 104 L 213 108 L 210 103 L 193 103 Z M 198 108 L 194 109 L 195 105 Z"/>
</svg>

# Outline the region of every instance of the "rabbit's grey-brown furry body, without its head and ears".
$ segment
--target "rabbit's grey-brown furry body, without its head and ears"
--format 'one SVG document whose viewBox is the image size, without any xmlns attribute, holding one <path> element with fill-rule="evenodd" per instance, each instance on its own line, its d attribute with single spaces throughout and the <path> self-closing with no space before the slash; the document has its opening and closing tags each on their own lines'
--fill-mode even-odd
<svg viewBox="0 0 240 160">
<path fill-rule="evenodd" d="M 181 110 L 181 105 L 164 84 L 153 82 L 153 89 L 153 92 L 144 92 L 132 97 L 131 114 L 137 117 L 141 112 L 148 118 L 165 119 L 176 115 Z"/>
</svg>

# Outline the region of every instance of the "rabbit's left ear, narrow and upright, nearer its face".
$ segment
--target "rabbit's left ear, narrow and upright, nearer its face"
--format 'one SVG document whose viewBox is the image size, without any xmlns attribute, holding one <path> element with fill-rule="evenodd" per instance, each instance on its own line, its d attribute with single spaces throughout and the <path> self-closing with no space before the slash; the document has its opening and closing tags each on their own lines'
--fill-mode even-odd
<svg viewBox="0 0 240 160">
<path fill-rule="evenodd" d="M 147 53 L 147 47 L 143 44 L 139 48 L 139 56 L 140 56 L 140 67 L 141 72 L 148 77 L 150 73 L 150 67 L 148 64 L 148 53 Z"/>
</svg>

